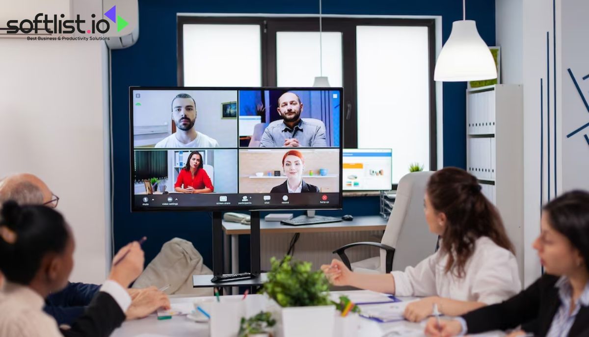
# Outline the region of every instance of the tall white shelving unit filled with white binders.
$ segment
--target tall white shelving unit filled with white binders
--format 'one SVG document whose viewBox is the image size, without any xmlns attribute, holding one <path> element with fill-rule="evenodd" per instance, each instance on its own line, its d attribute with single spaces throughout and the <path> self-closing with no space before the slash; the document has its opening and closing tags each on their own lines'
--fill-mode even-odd
<svg viewBox="0 0 589 337">
<path fill-rule="evenodd" d="M 497 206 L 523 279 L 524 110 L 522 85 L 466 91 L 466 169 Z"/>
</svg>

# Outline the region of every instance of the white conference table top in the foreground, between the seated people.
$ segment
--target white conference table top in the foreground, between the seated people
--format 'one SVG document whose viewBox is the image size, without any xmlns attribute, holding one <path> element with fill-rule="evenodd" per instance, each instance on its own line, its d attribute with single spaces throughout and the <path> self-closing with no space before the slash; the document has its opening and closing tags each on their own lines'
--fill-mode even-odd
<svg viewBox="0 0 589 337">
<path fill-rule="evenodd" d="M 345 292 L 332 292 L 332 294 L 358 294 L 366 290 L 351 290 Z M 225 298 L 240 299 L 242 295 L 223 296 Z M 252 296 L 252 295 L 250 295 Z M 263 295 L 253 295 L 263 296 Z M 415 298 L 400 298 L 401 300 L 412 300 Z M 214 300 L 213 296 L 207 298 L 197 297 L 176 297 L 170 296 L 170 303 L 174 305 L 187 305 L 195 301 Z M 258 298 L 260 300 L 260 297 Z M 264 298 L 262 300 L 266 301 Z M 415 336 L 421 337 L 425 322 L 412 323 L 408 321 L 378 323 L 369 319 L 360 318 L 358 326 L 358 337 L 364 336 Z M 151 314 L 143 319 L 124 322 L 123 325 L 112 333 L 112 337 L 200 337 L 209 336 L 209 323 L 196 323 L 185 315 L 173 316 L 171 319 L 158 320 L 157 315 Z M 477 336 L 499 337 L 505 336 L 502 332 L 491 332 Z"/>
</svg>

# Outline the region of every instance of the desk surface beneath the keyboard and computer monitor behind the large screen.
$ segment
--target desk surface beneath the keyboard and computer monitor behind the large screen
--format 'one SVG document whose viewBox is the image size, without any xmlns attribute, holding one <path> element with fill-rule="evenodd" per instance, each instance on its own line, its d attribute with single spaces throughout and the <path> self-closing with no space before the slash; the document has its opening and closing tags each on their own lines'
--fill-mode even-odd
<svg viewBox="0 0 589 337">
<path fill-rule="evenodd" d="M 362 232 L 366 230 L 385 230 L 387 220 L 382 216 L 356 216 L 352 221 L 287 226 L 280 222 L 267 222 L 260 219 L 260 233 L 325 233 Z M 223 231 L 229 235 L 249 234 L 250 226 L 236 222 L 223 221 Z"/>
</svg>

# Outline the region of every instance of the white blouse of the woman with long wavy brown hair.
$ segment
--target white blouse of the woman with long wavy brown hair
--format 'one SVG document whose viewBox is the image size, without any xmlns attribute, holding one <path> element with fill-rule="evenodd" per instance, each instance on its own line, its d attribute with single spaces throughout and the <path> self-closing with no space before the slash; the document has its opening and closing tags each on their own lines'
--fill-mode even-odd
<svg viewBox="0 0 589 337">
<path fill-rule="evenodd" d="M 395 295 L 439 296 L 490 305 L 521 290 L 515 256 L 486 236 L 475 242 L 474 253 L 464 266 L 464 277 L 456 277 L 452 270 L 445 272 L 447 259 L 438 250 L 415 267 L 391 272 L 395 277 Z"/>
</svg>

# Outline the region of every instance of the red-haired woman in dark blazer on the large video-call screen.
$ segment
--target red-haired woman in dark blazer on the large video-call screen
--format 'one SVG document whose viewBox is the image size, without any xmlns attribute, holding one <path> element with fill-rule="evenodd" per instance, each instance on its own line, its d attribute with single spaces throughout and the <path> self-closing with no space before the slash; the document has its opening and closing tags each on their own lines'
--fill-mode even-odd
<svg viewBox="0 0 589 337">
<path fill-rule="evenodd" d="M 282 170 L 286 174 L 286 181 L 274 186 L 270 193 L 319 193 L 319 187 L 303 181 L 305 158 L 300 151 L 290 150 L 282 157 Z"/>
</svg>

